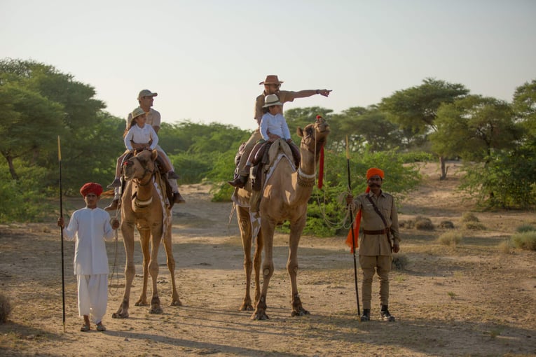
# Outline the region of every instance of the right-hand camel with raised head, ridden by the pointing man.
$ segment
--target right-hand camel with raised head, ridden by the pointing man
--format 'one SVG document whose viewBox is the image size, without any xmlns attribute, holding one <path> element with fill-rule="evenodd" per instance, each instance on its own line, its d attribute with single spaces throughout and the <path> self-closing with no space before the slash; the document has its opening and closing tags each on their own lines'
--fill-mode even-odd
<svg viewBox="0 0 536 357">
<path fill-rule="evenodd" d="M 298 295 L 298 285 L 296 275 L 298 272 L 298 244 L 301 232 L 305 227 L 307 219 L 307 202 L 312 193 L 312 186 L 315 184 L 315 167 L 319 160 L 319 152 L 326 143 L 329 134 L 329 125 L 324 119 L 317 120 L 314 124 L 307 125 L 303 130 L 298 127 L 298 135 L 302 138 L 300 144 L 301 163 L 298 170 L 288 160 L 279 160 L 271 176 L 266 181 L 263 188 L 261 202 L 259 206 L 259 216 L 261 218 L 261 229 L 256 235 L 256 247 L 252 264 L 252 221 L 250 219 L 250 209 L 245 204 L 237 204 L 238 223 L 242 246 L 244 248 L 244 269 L 246 273 L 246 294 L 240 310 L 252 310 L 252 300 L 249 294 L 251 285 L 252 269 L 255 272 L 255 301 L 256 307 L 252 314 L 254 320 L 264 320 L 268 318 L 266 314 L 266 295 L 268 284 L 273 275 L 273 235 L 277 224 L 289 221 L 289 259 L 287 260 L 287 271 L 291 281 L 291 316 L 301 316 L 308 314 L 303 309 Z M 236 192 L 235 202 L 247 202 L 251 196 L 251 185 L 248 183 L 244 189 Z M 261 252 L 264 248 L 263 286 L 259 288 L 259 272 L 261 267 Z"/>
</svg>

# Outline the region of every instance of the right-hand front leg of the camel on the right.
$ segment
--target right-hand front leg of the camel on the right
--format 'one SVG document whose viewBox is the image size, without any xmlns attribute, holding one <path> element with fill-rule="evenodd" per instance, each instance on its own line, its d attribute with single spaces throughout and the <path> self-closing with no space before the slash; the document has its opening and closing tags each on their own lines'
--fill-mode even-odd
<svg viewBox="0 0 536 357">
<path fill-rule="evenodd" d="M 289 260 L 287 261 L 287 272 L 289 272 L 290 284 L 291 284 L 291 304 L 292 312 L 291 316 L 303 316 L 308 315 L 309 311 L 303 309 L 301 306 L 300 295 L 298 294 L 298 245 L 300 243 L 301 232 L 305 227 L 306 215 L 300 218 L 298 222 L 290 225 L 290 239 L 289 239 Z"/>
</svg>

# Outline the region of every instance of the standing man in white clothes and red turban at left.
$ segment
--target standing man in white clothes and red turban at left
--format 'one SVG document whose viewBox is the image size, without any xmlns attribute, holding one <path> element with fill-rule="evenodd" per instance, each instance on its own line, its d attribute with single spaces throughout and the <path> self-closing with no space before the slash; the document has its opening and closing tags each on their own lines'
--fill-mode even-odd
<svg viewBox="0 0 536 357">
<path fill-rule="evenodd" d="M 74 211 L 69 225 L 64 228 L 63 218 L 58 225 L 63 228 L 64 239 L 74 240 L 74 274 L 78 281 L 78 314 L 83 316 L 82 331 L 90 330 L 90 320 L 97 330 L 104 331 L 102 317 L 108 304 L 108 256 L 104 240 L 111 241 L 119 222 L 97 207 L 102 193 L 98 183 L 86 183 L 80 190 L 86 207 Z"/>
</svg>

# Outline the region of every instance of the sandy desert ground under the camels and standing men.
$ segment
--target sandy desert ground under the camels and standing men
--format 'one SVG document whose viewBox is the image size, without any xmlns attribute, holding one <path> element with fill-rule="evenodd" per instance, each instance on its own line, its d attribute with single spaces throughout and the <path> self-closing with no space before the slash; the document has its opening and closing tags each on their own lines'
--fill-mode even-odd
<svg viewBox="0 0 536 357">
<path fill-rule="evenodd" d="M 243 253 L 231 203 L 210 202 L 208 186 L 181 186 L 186 204 L 174 207 L 173 249 L 184 306 L 170 307 L 170 274 L 160 249 L 163 314 L 130 307 L 113 319 L 123 295 L 125 253 L 121 234 L 107 244 L 111 274 L 106 332 L 79 332 L 74 243 L 64 242 L 66 325 L 62 325 L 60 231 L 55 221 L 0 226 L 0 290 L 13 306 L 0 324 L 3 356 L 533 356 L 536 354 L 536 252 L 500 247 L 534 212 L 474 214 L 486 230 L 464 230 L 462 214 L 474 209 L 456 193 L 457 165 L 439 181 L 437 165 L 422 167 L 422 185 L 400 207 L 400 219 L 426 216 L 436 229 L 402 228 L 402 270 L 391 273 L 390 310 L 397 321 L 360 323 L 352 254 L 345 237 L 304 236 L 298 288 L 310 315 L 290 316 L 285 270 L 288 238 L 275 239 L 275 274 L 268 290 L 267 321 L 238 311 L 245 292 Z M 388 178 L 386 178 L 388 179 Z M 467 198 L 467 197 L 465 197 Z M 109 200 L 102 200 L 104 207 Z M 67 200 L 67 214 L 81 207 Z M 437 237 L 451 221 L 463 239 L 444 246 Z M 141 253 L 131 305 L 142 286 Z M 360 275 L 358 278 L 360 279 Z M 360 280 L 359 280 L 360 281 Z M 359 290 L 360 290 L 359 286 Z M 373 299 L 378 291 L 373 283 Z"/>
</svg>

